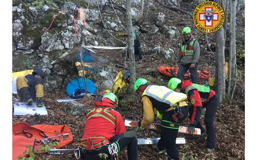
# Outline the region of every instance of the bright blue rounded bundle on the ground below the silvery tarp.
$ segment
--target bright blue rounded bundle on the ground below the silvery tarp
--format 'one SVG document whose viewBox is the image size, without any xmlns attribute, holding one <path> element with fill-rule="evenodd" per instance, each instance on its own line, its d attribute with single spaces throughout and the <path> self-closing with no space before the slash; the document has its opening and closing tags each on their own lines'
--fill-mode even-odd
<svg viewBox="0 0 256 160">
<path fill-rule="evenodd" d="M 86 84 L 86 87 L 85 87 Z M 76 91 L 76 89 L 85 89 L 87 93 L 95 94 L 96 87 L 94 82 L 92 82 L 90 79 L 86 79 L 86 83 L 84 81 L 84 78 L 78 78 L 78 79 L 72 79 L 68 84 L 66 85 L 66 94 L 68 96 L 72 97 L 73 93 Z"/>
</svg>

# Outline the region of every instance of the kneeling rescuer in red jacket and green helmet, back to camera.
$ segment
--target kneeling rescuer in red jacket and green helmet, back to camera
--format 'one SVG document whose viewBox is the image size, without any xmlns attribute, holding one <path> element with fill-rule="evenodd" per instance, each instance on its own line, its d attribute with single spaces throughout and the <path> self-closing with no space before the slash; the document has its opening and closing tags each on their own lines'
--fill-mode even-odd
<svg viewBox="0 0 256 160">
<path fill-rule="evenodd" d="M 86 116 L 82 135 L 82 159 L 101 159 L 100 153 L 113 159 L 127 146 L 129 160 L 138 159 L 138 141 L 134 131 L 127 131 L 122 116 L 114 108 L 118 98 L 106 93 L 95 101 L 94 110 Z"/>
</svg>

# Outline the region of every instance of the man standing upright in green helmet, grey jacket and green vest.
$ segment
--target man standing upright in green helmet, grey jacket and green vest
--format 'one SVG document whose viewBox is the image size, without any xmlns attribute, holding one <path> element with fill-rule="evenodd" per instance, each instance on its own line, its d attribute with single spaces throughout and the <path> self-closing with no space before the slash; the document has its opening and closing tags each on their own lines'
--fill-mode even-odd
<svg viewBox="0 0 256 160">
<path fill-rule="evenodd" d="M 191 35 L 190 27 L 186 26 L 182 30 L 183 41 L 180 45 L 178 63 L 178 79 L 184 79 L 186 71 L 190 71 L 190 78 L 193 83 L 198 83 L 198 60 L 200 56 L 199 42 Z"/>
</svg>

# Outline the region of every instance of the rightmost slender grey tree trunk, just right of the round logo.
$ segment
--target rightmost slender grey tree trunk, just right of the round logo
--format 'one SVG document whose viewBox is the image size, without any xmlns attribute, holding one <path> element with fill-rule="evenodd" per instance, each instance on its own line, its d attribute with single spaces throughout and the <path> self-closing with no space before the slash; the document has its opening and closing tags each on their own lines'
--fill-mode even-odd
<svg viewBox="0 0 256 160">
<path fill-rule="evenodd" d="M 230 0 L 230 55 L 228 70 L 228 90 L 235 86 L 236 79 L 236 0 Z"/>
</svg>

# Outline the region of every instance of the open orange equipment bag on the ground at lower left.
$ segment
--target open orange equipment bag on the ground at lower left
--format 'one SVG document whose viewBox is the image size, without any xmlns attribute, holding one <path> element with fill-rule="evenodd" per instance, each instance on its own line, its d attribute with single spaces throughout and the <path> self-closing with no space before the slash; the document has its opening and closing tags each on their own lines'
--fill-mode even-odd
<svg viewBox="0 0 256 160">
<path fill-rule="evenodd" d="M 70 128 L 66 125 L 52 126 L 48 124 L 39 124 L 30 126 L 25 122 L 18 122 L 12 125 L 12 159 L 16 160 L 19 156 L 27 156 L 28 153 L 23 154 L 23 151 L 28 151 L 26 146 L 30 145 L 31 148 L 36 139 L 36 150 L 39 147 L 39 141 L 60 134 L 69 134 L 69 137 L 65 140 L 60 140 L 59 137 L 52 138 L 52 140 L 58 141 L 58 146 L 55 148 L 61 148 L 68 145 L 73 141 L 73 135 Z"/>
</svg>

